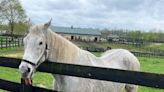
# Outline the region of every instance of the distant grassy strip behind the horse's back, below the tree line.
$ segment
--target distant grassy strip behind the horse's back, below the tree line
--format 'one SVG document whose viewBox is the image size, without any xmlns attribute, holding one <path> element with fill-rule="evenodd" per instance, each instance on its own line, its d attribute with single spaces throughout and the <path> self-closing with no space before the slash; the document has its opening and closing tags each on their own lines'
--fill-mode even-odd
<svg viewBox="0 0 164 92">
<path fill-rule="evenodd" d="M 139 52 L 146 52 L 149 49 L 158 49 L 158 50 L 164 50 L 164 44 L 163 43 L 150 43 L 145 44 L 141 47 L 138 47 L 136 45 L 127 45 L 127 44 L 120 44 L 120 43 L 95 43 L 95 42 L 73 42 L 79 47 L 96 47 L 96 48 L 104 48 L 111 47 L 114 48 L 122 48 L 122 49 L 128 49 L 130 51 L 139 51 Z"/>
</svg>

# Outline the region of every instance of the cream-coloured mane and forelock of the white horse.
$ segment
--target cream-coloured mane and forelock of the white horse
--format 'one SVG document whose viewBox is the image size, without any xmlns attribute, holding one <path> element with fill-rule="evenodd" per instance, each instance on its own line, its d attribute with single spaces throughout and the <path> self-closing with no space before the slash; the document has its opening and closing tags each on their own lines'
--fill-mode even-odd
<svg viewBox="0 0 164 92">
<path fill-rule="evenodd" d="M 49 60 L 62 63 L 74 63 L 80 48 L 61 35 L 53 32 L 50 28 L 47 29 L 47 32 L 42 32 L 43 26 L 42 24 L 32 26 L 30 33 L 38 36 L 45 35 L 49 49 Z"/>
</svg>

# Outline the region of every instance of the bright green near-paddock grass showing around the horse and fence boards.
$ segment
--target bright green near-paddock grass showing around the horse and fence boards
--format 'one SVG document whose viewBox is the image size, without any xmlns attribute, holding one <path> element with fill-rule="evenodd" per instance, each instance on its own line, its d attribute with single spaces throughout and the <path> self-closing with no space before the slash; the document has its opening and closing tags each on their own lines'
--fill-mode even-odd
<svg viewBox="0 0 164 92">
<path fill-rule="evenodd" d="M 12 48 L 7 50 L 1 50 L 0 56 L 21 58 L 23 55 L 23 48 Z M 94 53 L 96 56 L 100 56 L 100 53 Z M 160 58 L 144 58 L 138 57 L 141 63 L 141 69 L 145 72 L 161 73 L 164 74 L 164 59 Z M 0 78 L 11 80 L 14 82 L 20 82 L 20 74 L 17 69 L 11 69 L 6 67 L 0 67 Z M 51 74 L 37 72 L 34 76 L 33 83 L 35 86 L 44 88 L 52 88 L 53 77 Z M 0 91 L 4 92 L 4 91 Z M 164 90 L 153 89 L 148 87 L 139 87 L 138 92 L 164 92 Z"/>
</svg>

